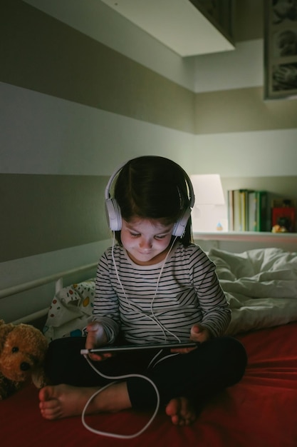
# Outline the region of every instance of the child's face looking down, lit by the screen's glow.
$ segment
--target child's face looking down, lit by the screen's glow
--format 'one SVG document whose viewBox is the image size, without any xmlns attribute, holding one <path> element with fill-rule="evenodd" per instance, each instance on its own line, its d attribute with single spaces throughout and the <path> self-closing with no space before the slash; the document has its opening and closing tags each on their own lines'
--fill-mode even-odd
<svg viewBox="0 0 297 447">
<path fill-rule="evenodd" d="M 123 220 L 120 238 L 132 261 L 150 266 L 165 259 L 173 224 L 163 225 L 149 219 Z"/>
</svg>

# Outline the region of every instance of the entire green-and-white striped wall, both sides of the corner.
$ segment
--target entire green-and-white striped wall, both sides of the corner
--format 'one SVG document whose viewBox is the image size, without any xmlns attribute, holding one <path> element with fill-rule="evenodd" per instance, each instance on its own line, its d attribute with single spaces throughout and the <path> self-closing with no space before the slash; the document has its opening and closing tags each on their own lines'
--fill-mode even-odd
<svg viewBox="0 0 297 447">
<path fill-rule="evenodd" d="M 1 0 L 0 288 L 96 261 L 105 184 L 131 157 L 239 186 L 296 176 L 297 103 L 263 101 L 261 2 L 237 3 L 236 50 L 182 59 L 100 0 Z M 2 299 L 0 316 L 52 294 Z"/>
</svg>

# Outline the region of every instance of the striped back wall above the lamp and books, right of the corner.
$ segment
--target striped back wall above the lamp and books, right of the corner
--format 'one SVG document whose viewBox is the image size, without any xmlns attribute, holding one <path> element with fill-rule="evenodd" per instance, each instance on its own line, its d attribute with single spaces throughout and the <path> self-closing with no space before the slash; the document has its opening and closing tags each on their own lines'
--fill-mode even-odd
<svg viewBox="0 0 297 447">
<path fill-rule="evenodd" d="M 264 101 L 263 4 L 236 2 L 235 51 L 195 58 L 193 170 L 234 177 L 237 188 L 242 177 L 296 176 L 297 101 Z"/>
</svg>

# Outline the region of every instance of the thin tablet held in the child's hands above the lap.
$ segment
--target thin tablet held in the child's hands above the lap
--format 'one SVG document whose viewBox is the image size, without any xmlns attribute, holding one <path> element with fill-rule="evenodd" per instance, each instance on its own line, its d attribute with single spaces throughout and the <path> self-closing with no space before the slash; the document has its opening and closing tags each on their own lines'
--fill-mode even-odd
<svg viewBox="0 0 297 447">
<path fill-rule="evenodd" d="M 172 349 L 172 348 L 195 348 L 197 346 L 197 343 L 194 343 L 194 341 L 186 341 L 179 343 L 178 341 L 174 342 L 167 342 L 167 343 L 148 343 L 146 345 L 123 345 L 123 346 L 100 346 L 99 348 L 93 348 L 93 349 L 81 349 L 81 354 L 88 354 L 88 353 L 113 353 L 113 352 L 127 352 L 127 351 L 143 351 L 144 349 Z"/>
</svg>

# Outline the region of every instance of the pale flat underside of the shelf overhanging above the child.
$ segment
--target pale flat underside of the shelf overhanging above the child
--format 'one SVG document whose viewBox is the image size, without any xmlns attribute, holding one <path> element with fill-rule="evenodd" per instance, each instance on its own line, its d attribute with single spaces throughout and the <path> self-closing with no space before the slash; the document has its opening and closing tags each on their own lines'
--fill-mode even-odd
<svg viewBox="0 0 297 447">
<path fill-rule="evenodd" d="M 100 0 L 180 56 L 234 50 L 189 0 Z"/>
</svg>

